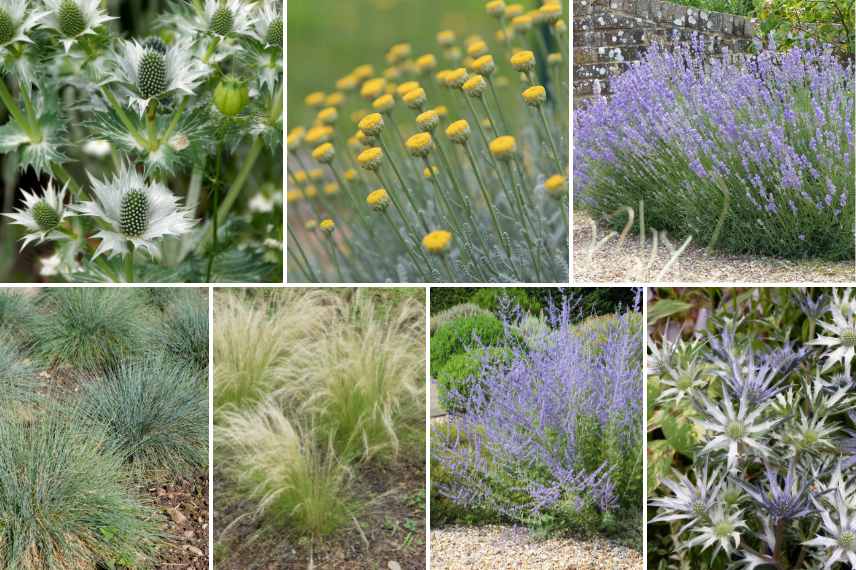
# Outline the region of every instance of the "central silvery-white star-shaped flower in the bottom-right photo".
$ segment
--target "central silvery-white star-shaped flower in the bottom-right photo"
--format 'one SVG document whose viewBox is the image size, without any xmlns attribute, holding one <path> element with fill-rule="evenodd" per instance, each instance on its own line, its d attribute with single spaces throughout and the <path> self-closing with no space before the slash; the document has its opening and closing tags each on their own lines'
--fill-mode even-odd
<svg viewBox="0 0 856 570">
<path fill-rule="evenodd" d="M 757 439 L 757 436 L 769 432 L 783 418 L 759 422 L 758 419 L 767 410 L 766 405 L 758 405 L 750 409 L 744 395 L 740 398 L 740 403 L 735 410 L 731 395 L 727 390 L 724 392 L 722 401 L 718 404 L 714 404 L 707 398 L 701 399 L 703 407 L 700 411 L 707 417 L 696 422 L 705 430 L 715 434 L 701 450 L 702 455 L 717 449 L 728 450 L 728 471 L 735 472 L 741 446 L 755 450 L 761 457 L 767 456 L 770 449 Z"/>
</svg>

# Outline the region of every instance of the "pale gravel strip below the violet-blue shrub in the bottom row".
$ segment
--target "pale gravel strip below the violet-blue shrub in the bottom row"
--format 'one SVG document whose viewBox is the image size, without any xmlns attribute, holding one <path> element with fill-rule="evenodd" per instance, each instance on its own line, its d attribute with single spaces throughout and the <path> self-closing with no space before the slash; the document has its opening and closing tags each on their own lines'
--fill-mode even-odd
<svg viewBox="0 0 856 570">
<path fill-rule="evenodd" d="M 431 570 L 641 570 L 642 554 L 603 539 L 536 541 L 507 526 L 431 530 Z"/>
</svg>

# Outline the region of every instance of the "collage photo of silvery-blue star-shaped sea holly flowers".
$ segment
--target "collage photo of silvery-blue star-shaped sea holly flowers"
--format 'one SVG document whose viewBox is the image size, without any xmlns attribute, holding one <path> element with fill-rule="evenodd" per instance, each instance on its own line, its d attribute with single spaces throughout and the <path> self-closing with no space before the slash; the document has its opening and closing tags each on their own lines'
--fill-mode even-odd
<svg viewBox="0 0 856 570">
<path fill-rule="evenodd" d="M 655 288 L 648 568 L 856 567 L 856 299 Z"/>
</svg>

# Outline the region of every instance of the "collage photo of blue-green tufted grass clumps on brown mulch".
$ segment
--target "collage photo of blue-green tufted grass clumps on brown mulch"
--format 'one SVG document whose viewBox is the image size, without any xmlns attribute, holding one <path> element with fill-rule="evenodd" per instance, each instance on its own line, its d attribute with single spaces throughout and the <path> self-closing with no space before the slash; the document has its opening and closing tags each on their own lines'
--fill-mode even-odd
<svg viewBox="0 0 856 570">
<path fill-rule="evenodd" d="M 209 568 L 207 289 L 0 289 L 0 567 Z"/>
</svg>

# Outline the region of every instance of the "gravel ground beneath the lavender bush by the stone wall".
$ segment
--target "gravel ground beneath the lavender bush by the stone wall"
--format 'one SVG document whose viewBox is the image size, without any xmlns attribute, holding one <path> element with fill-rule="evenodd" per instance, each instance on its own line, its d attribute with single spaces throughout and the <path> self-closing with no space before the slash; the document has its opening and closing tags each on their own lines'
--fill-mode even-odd
<svg viewBox="0 0 856 570">
<path fill-rule="evenodd" d="M 600 227 L 597 240 L 605 238 L 608 230 Z M 680 244 L 673 244 L 677 248 Z M 659 247 L 651 261 L 651 242 L 645 251 L 639 247 L 639 238 L 630 235 L 623 243 L 612 238 L 601 246 L 594 246 L 591 218 L 574 213 L 574 280 L 584 283 L 620 281 L 680 281 L 700 282 L 752 282 L 752 283 L 804 283 L 844 282 L 856 278 L 856 267 L 851 262 L 787 261 L 770 257 L 740 255 L 708 255 L 704 249 L 690 244 L 668 271 L 658 274 L 669 261 L 668 247 Z"/>
</svg>

